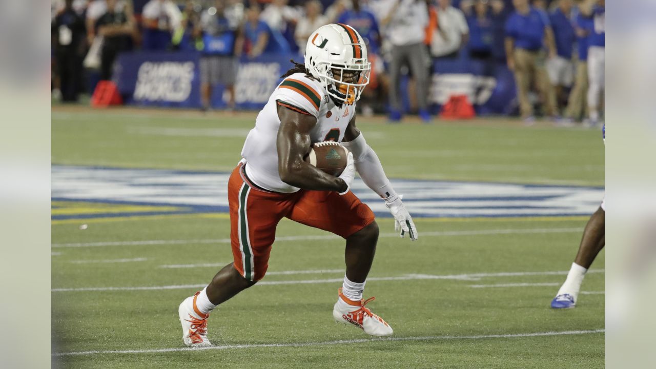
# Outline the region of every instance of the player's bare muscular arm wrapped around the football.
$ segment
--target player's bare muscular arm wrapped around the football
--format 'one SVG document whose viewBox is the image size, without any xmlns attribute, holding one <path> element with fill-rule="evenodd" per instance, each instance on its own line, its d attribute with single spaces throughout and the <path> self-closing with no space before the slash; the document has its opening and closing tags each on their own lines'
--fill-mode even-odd
<svg viewBox="0 0 656 369">
<path fill-rule="evenodd" d="M 280 118 L 276 142 L 280 179 L 306 190 L 346 191 L 348 185 L 344 180 L 327 175 L 303 160 L 310 152 L 310 131 L 317 119 L 284 106 L 278 106 L 277 112 Z"/>
</svg>

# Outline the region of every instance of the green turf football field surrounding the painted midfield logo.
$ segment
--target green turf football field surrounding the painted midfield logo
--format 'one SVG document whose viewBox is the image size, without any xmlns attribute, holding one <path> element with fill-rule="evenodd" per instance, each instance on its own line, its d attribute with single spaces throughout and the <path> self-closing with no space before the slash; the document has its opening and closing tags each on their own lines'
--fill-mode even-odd
<svg viewBox="0 0 656 369">
<path fill-rule="evenodd" d="M 225 173 L 255 116 L 55 107 L 53 168 Z M 596 129 L 497 118 L 433 125 L 358 118 L 358 127 L 393 184 L 604 185 Z M 131 173 L 138 179 L 139 170 Z M 102 198 L 102 188 L 94 190 Z M 365 298 L 376 297 L 367 306 L 394 328 L 391 338 L 333 322 L 344 242 L 284 220 L 267 276 L 212 313 L 215 346 L 194 350 L 182 345 L 178 304 L 232 261 L 230 226 L 221 211 L 176 209 L 53 200 L 54 367 L 604 367 L 603 251 L 577 308 L 549 307 L 577 251 L 583 213 L 416 217 L 417 242 L 398 238 L 391 219 L 380 217 Z"/>
</svg>

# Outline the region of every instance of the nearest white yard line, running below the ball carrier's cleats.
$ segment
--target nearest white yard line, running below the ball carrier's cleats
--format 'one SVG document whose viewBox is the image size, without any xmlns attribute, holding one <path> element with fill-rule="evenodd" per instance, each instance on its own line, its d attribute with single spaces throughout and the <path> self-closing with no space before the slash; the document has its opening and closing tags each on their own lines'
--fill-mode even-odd
<svg viewBox="0 0 656 369">
<path fill-rule="evenodd" d="M 173 353 L 179 351 L 206 351 L 206 350 L 230 350 L 230 349 L 258 349 L 258 348 L 283 348 L 283 347 L 308 347 L 308 346 L 334 346 L 352 345 L 354 343 L 368 342 L 396 342 L 396 341 L 450 341 L 453 339 L 494 339 L 494 338 L 523 338 L 523 337 L 548 337 L 548 336 L 572 336 L 579 334 L 598 334 L 605 330 L 569 330 L 562 332 L 533 332 L 518 334 L 485 334 L 480 336 L 422 336 L 422 337 L 390 337 L 390 338 L 363 338 L 363 339 L 341 339 L 338 341 L 323 342 L 299 342 L 299 343 L 258 343 L 253 345 L 217 345 L 211 347 L 171 347 L 167 349 L 146 350 L 107 350 L 107 351 L 72 351 L 68 353 L 53 353 L 54 357 L 73 355 L 98 355 L 98 354 L 145 354 L 145 353 Z"/>
</svg>

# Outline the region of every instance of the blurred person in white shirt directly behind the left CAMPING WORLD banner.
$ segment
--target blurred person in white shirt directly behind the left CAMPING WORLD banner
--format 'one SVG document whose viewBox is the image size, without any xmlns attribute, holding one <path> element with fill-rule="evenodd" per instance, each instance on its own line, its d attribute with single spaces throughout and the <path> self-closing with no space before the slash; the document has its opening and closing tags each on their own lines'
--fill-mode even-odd
<svg viewBox="0 0 656 369">
<path fill-rule="evenodd" d="M 142 11 L 144 50 L 166 50 L 182 22 L 182 12 L 173 0 L 150 0 Z"/>
</svg>

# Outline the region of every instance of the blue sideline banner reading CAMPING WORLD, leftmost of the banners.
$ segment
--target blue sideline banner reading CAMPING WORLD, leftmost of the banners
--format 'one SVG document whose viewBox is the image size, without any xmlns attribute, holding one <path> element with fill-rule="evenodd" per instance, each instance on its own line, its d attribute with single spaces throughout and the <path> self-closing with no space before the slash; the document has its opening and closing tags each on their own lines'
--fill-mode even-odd
<svg viewBox="0 0 656 369">
<path fill-rule="evenodd" d="M 112 79 L 127 104 L 199 108 L 198 64 L 197 53 L 125 53 Z"/>
</svg>

